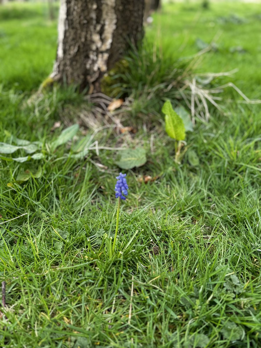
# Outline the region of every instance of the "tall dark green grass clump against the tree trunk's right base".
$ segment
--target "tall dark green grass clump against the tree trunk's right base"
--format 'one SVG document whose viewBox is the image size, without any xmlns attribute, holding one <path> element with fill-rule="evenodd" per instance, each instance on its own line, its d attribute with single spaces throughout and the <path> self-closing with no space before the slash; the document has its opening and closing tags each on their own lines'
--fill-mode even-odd
<svg viewBox="0 0 261 348">
<path fill-rule="evenodd" d="M 147 112 L 159 112 L 164 99 L 182 98 L 177 89 L 190 74 L 188 63 L 164 58 L 157 48 L 147 43 L 116 63 L 103 78 L 102 92 L 115 98 L 130 97 L 134 102 L 142 100 Z"/>
</svg>

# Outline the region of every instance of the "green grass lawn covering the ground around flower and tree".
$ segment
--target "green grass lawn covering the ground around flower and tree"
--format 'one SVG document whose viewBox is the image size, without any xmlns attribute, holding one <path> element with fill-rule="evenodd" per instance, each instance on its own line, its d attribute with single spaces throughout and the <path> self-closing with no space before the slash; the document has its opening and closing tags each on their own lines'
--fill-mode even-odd
<svg viewBox="0 0 261 348">
<path fill-rule="evenodd" d="M 26 104 L 55 58 L 56 23 L 47 13 L 44 5 L 32 3 L 0 7 L 5 67 L 0 141 L 14 141 L 6 130 L 40 141 L 45 155 L 25 163 L 0 160 L 0 279 L 6 282 L 7 304 L 1 308 L 0 346 L 260 347 L 260 105 L 226 103 L 236 94 L 224 92 L 226 115 L 212 110 L 209 123 L 198 120 L 187 136 L 199 165 L 190 165 L 188 152 L 178 165 L 161 119 L 145 114 L 164 94 L 155 92 L 148 101 L 141 93 L 147 96 L 144 86 L 165 83 L 167 75 L 161 69 L 155 80 L 139 76 L 131 92 L 140 99 L 121 115 L 125 126 L 140 125 L 137 133 L 109 127 L 94 136 L 100 147 L 143 146 L 148 157 L 144 166 L 126 171 L 121 253 L 110 259 L 99 234 L 113 237 L 116 227 L 119 151 L 90 150 L 75 159 L 71 142 L 52 151 L 50 144 L 69 124 L 80 123 L 77 139 L 93 134 L 80 121 L 91 105 L 75 89 L 55 88 Z M 247 22 L 218 19 L 231 13 Z M 258 14 L 253 4 L 215 3 L 208 11 L 194 4 L 165 5 L 147 28 L 147 42 L 164 33 L 158 50 L 167 70 L 197 52 L 197 37 L 209 42 L 221 30 L 220 50 L 205 54 L 198 71 L 238 68 L 233 82 L 259 98 Z M 209 22 L 214 27 L 206 30 Z M 248 52 L 228 53 L 237 45 Z M 149 56 L 147 61 L 153 63 Z M 157 64 L 140 69 L 139 75 L 149 74 Z M 135 72 L 126 78 L 127 86 L 134 79 Z M 57 120 L 62 126 L 52 130 Z M 18 150 L 11 156 L 25 155 Z M 19 173 L 39 166 L 40 178 L 16 182 Z M 145 184 L 139 180 L 143 175 L 157 179 Z"/>
</svg>

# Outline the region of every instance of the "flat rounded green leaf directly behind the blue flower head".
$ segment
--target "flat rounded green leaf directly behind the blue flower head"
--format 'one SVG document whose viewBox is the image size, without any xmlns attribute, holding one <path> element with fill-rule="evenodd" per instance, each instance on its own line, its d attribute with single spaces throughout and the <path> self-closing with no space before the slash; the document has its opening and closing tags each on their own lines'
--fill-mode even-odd
<svg viewBox="0 0 261 348">
<path fill-rule="evenodd" d="M 120 159 L 115 163 L 121 169 L 132 169 L 143 166 L 147 161 L 146 151 L 143 148 L 127 149 L 120 152 Z"/>
</svg>

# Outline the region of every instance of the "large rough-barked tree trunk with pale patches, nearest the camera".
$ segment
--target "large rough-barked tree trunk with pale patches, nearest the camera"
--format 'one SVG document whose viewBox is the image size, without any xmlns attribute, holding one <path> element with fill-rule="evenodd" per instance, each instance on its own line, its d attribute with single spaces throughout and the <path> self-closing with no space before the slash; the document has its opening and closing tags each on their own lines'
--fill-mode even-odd
<svg viewBox="0 0 261 348">
<path fill-rule="evenodd" d="M 51 78 L 98 91 L 100 80 L 143 36 L 144 0 L 61 0 Z"/>
</svg>

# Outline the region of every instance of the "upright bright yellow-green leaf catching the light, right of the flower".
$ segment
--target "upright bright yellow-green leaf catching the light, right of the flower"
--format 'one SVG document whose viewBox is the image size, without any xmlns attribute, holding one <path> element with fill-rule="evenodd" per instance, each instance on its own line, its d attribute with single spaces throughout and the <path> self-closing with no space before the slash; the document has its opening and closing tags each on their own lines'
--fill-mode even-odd
<svg viewBox="0 0 261 348">
<path fill-rule="evenodd" d="M 167 134 L 177 141 L 185 139 L 185 127 L 182 119 L 173 110 L 171 102 L 167 100 L 163 107 L 162 112 L 165 114 L 166 132 Z"/>
</svg>

